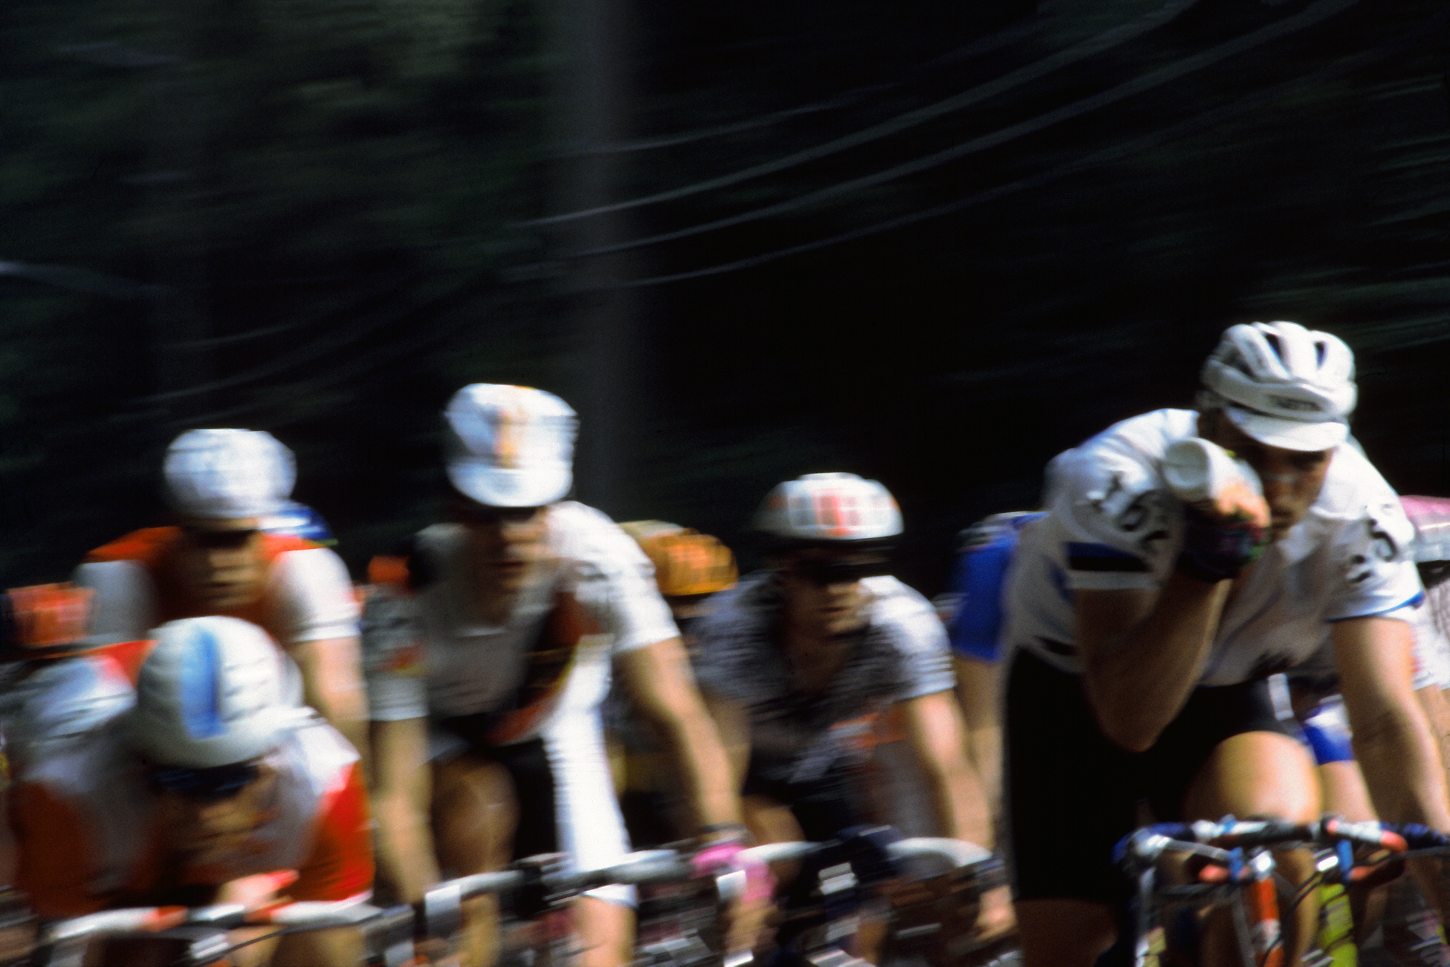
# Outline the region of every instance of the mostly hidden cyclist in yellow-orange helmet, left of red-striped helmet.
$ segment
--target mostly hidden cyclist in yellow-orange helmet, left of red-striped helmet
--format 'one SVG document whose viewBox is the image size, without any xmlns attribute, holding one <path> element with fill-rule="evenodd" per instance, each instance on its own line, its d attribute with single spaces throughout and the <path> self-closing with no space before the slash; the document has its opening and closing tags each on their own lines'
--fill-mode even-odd
<svg viewBox="0 0 1450 967">
<path fill-rule="evenodd" d="M 664 520 L 619 525 L 654 565 L 660 596 L 680 629 L 686 651 L 695 648 L 695 625 L 710 612 L 710 596 L 735 584 L 735 555 L 719 539 Z M 648 723 L 635 713 L 628 693 L 615 683 L 603 710 L 609 764 L 619 809 L 634 845 L 658 845 L 689 837 L 668 755 Z"/>
</svg>

